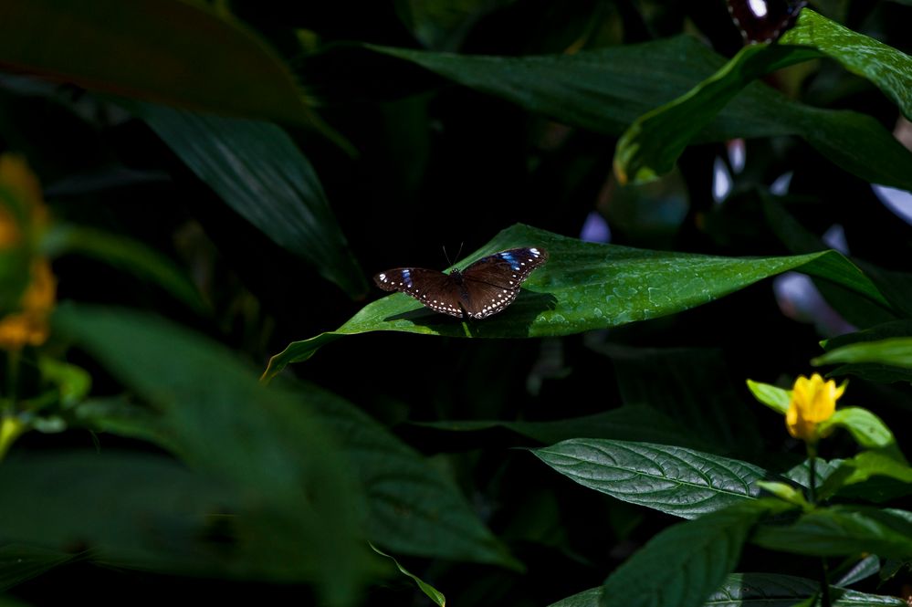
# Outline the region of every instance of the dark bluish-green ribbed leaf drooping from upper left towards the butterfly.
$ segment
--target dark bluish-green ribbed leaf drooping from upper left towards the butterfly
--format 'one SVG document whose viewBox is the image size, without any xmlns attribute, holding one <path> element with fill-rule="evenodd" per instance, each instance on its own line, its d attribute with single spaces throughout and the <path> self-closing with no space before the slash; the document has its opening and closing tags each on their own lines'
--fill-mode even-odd
<svg viewBox="0 0 912 607">
<path fill-rule="evenodd" d="M 361 268 L 330 210 L 320 179 L 275 124 L 127 103 L 222 200 L 278 246 L 317 268 L 351 298 Z"/>
</svg>

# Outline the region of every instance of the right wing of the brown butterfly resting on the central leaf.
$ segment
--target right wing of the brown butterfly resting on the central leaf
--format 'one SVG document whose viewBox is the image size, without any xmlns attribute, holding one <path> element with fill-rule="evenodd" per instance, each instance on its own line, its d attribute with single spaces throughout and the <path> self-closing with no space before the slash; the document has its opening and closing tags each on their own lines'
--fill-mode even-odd
<svg viewBox="0 0 912 607">
<path fill-rule="evenodd" d="M 541 247 L 521 247 L 482 257 L 462 271 L 462 307 L 473 319 L 484 319 L 507 308 L 519 295 L 519 285 L 548 260 Z"/>
</svg>

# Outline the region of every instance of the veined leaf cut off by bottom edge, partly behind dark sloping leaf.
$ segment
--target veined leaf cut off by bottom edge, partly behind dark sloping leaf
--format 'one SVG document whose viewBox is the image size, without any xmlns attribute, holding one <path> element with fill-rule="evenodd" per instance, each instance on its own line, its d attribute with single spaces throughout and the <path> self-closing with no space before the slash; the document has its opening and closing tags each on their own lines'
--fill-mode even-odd
<svg viewBox="0 0 912 607">
<path fill-rule="evenodd" d="M 704 603 L 710 605 L 795 607 L 795 602 L 820 591 L 820 582 L 778 573 L 732 573 Z M 602 588 L 574 594 L 550 607 L 601 607 Z M 830 586 L 833 607 L 907 607 L 895 596 L 868 594 Z M 818 604 L 818 603 L 814 603 Z"/>
</svg>

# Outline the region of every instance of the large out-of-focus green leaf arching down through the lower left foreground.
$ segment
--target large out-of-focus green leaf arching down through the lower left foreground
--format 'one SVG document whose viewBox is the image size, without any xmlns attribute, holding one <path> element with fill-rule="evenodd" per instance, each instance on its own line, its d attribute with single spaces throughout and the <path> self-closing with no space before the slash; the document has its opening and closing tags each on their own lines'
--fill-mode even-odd
<svg viewBox="0 0 912 607">
<path fill-rule="evenodd" d="M 259 539 L 249 569 L 317 581 L 330 602 L 353 600 L 368 574 L 362 496 L 319 420 L 259 385 L 230 351 L 162 319 L 68 304 L 54 327 L 152 404 L 165 446 L 245 497 L 244 521 Z"/>
</svg>

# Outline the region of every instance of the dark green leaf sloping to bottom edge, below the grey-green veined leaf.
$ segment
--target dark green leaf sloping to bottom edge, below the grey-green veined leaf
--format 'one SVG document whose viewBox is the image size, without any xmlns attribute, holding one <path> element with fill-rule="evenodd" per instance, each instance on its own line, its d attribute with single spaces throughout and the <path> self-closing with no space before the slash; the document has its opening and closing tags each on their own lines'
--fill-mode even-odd
<svg viewBox="0 0 912 607">
<path fill-rule="evenodd" d="M 738 564 L 750 529 L 786 508 L 779 500 L 742 502 L 659 532 L 604 582 L 602 606 L 703 605 Z"/>
</svg>

